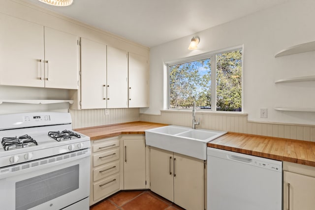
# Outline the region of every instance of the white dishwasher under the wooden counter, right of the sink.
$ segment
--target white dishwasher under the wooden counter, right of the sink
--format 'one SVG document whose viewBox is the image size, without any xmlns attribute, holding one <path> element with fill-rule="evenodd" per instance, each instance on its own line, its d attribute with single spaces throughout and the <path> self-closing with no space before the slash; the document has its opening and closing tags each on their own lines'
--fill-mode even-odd
<svg viewBox="0 0 315 210">
<path fill-rule="evenodd" d="M 282 210 L 282 161 L 207 148 L 207 210 Z"/>
</svg>

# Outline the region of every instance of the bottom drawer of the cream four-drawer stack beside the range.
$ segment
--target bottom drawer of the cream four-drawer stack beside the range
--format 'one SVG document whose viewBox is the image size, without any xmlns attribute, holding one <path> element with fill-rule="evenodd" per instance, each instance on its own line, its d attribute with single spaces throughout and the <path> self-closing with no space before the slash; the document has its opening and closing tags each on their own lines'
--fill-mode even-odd
<svg viewBox="0 0 315 210">
<path fill-rule="evenodd" d="M 109 195 L 111 192 L 119 190 L 120 188 L 120 175 L 109 177 L 93 184 L 94 200 Z"/>
</svg>

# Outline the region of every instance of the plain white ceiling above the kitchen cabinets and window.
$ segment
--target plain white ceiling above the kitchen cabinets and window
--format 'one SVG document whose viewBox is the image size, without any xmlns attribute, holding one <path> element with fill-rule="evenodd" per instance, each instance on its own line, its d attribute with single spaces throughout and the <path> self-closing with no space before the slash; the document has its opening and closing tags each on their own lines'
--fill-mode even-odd
<svg viewBox="0 0 315 210">
<path fill-rule="evenodd" d="M 287 0 L 73 0 L 67 7 L 28 1 L 153 47 Z"/>
</svg>

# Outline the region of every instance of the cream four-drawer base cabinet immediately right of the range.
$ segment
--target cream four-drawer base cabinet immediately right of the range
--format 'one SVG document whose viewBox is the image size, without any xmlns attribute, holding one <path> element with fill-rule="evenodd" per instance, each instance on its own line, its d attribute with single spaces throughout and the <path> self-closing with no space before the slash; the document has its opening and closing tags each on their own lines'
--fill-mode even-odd
<svg viewBox="0 0 315 210">
<path fill-rule="evenodd" d="M 120 190 L 120 138 L 92 142 L 90 205 Z"/>
</svg>

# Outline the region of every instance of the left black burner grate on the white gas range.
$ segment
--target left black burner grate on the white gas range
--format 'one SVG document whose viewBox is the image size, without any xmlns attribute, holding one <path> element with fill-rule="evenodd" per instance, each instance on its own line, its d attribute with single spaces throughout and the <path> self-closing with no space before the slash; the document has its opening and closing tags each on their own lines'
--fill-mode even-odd
<svg viewBox="0 0 315 210">
<path fill-rule="evenodd" d="M 36 146 L 37 142 L 29 135 L 20 137 L 3 137 L 1 144 L 4 150 L 16 150 L 20 148 Z"/>
</svg>

